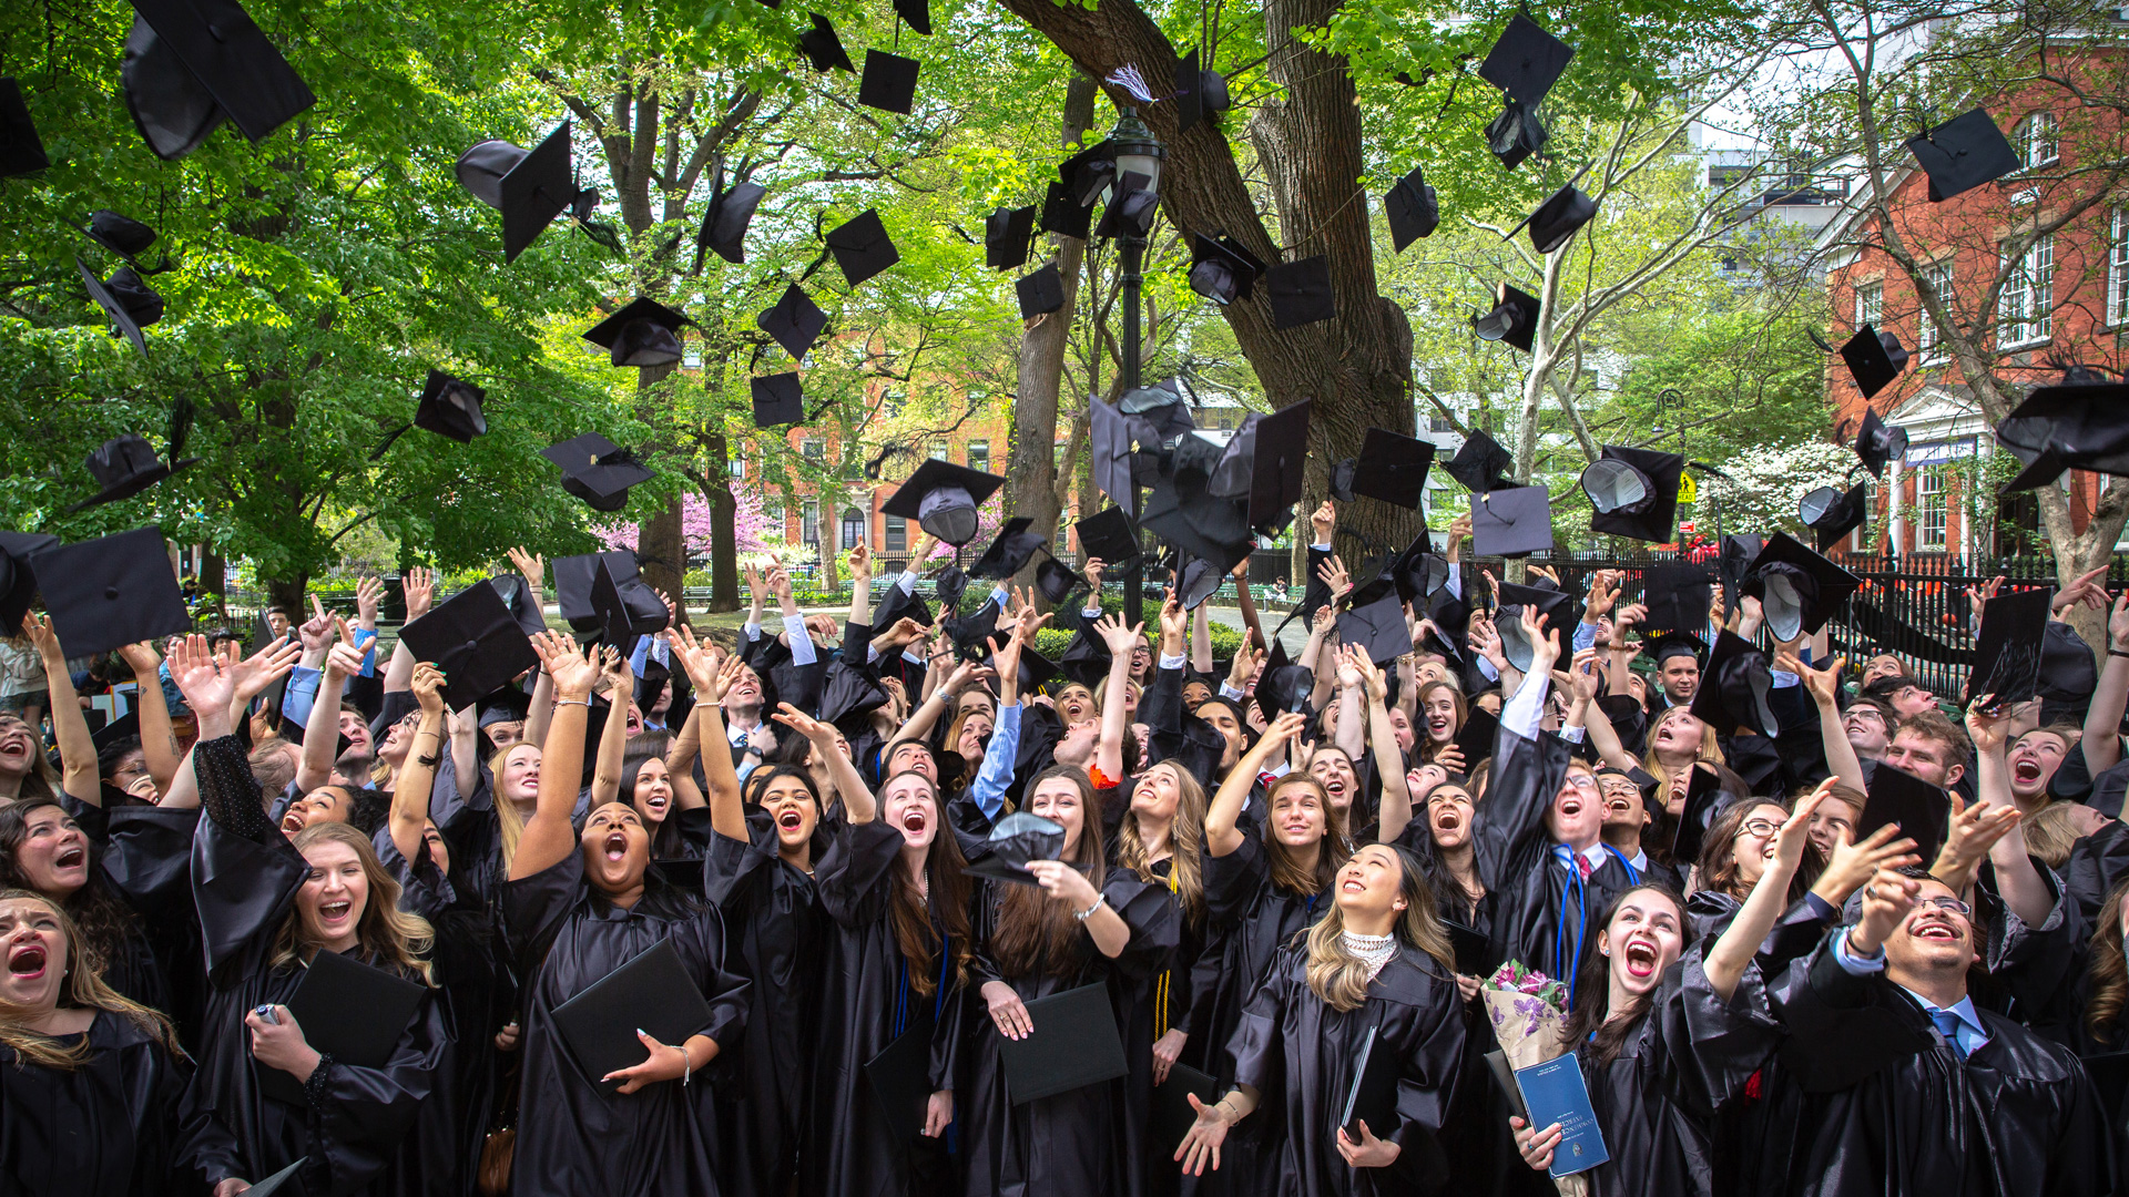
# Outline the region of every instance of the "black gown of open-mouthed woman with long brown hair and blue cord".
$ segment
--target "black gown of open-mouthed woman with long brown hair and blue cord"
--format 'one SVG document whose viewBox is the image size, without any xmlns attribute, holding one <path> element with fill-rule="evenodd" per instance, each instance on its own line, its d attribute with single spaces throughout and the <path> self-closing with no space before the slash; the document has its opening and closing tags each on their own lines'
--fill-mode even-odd
<svg viewBox="0 0 2129 1197">
<path fill-rule="evenodd" d="M 956 1108 L 964 1099 L 956 1084 L 967 1005 L 952 971 L 958 946 L 943 946 L 933 997 L 920 995 L 909 984 L 888 916 L 901 852 L 903 833 L 881 820 L 837 822 L 828 850 L 813 867 L 813 892 L 828 922 L 807 1044 L 811 1093 L 798 1152 L 798 1193 L 809 1197 L 937 1191 L 920 1174 L 937 1169 L 939 1139 L 920 1135 L 909 1144 L 896 1142 L 864 1076 L 867 1061 L 909 1027 L 922 1027 L 926 1016 L 933 1018 L 926 1084 L 933 1093 L 952 1088 Z M 935 914 L 935 933 L 939 927 Z"/>
</svg>

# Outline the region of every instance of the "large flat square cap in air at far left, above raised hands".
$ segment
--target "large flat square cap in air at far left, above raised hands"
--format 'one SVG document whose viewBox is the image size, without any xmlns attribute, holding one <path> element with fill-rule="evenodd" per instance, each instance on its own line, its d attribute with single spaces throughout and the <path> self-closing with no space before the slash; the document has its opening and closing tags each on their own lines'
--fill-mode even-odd
<svg viewBox="0 0 2129 1197">
<path fill-rule="evenodd" d="M 30 571 L 70 658 L 192 630 L 160 528 L 53 543 L 30 554 Z M 9 630 L 19 635 L 21 624 Z"/>
</svg>

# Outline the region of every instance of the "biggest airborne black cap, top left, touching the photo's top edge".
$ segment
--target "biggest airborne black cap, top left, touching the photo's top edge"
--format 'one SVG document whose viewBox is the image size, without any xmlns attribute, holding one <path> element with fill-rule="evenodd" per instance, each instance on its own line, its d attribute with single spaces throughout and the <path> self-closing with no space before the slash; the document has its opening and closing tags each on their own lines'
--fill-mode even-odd
<svg viewBox="0 0 2129 1197">
<path fill-rule="evenodd" d="M 119 79 L 164 160 L 192 153 L 221 121 L 255 145 L 317 102 L 236 0 L 134 0 Z"/>
</svg>

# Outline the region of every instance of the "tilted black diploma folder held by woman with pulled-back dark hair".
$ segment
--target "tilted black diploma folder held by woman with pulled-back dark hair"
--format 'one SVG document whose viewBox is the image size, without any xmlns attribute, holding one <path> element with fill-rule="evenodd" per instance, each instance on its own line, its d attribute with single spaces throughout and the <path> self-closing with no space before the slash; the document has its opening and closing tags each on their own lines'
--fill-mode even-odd
<svg viewBox="0 0 2129 1197">
<path fill-rule="evenodd" d="M 690 1035 L 709 1031 L 711 1010 L 679 963 L 673 939 L 660 939 L 554 1007 L 551 1018 L 577 1069 L 603 1078 L 643 1063 L 639 1031 L 660 1044 L 686 1044 Z M 598 1082 L 600 1093 L 620 1084 Z"/>
</svg>

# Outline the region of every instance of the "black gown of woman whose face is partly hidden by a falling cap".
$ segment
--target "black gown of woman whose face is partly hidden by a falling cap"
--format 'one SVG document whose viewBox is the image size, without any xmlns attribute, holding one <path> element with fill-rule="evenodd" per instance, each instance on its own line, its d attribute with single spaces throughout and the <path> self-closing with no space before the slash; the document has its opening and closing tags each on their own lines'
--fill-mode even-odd
<svg viewBox="0 0 2129 1197">
<path fill-rule="evenodd" d="M 986 944 L 996 935 L 1007 884 L 1011 882 L 984 886 L 979 935 Z M 1130 927 L 1130 941 L 1120 956 L 1113 961 L 1103 956 L 1082 929 L 1073 937 L 1075 958 L 1062 969 L 1064 975 L 1043 961 L 1033 975 L 1007 978 L 986 958 L 984 980 L 1003 980 L 1022 1001 L 1107 982 L 1113 1003 L 1124 978 L 1152 975 L 1175 950 L 1179 935 L 1182 920 L 1167 886 L 1150 886 L 1137 873 L 1111 871 L 1101 892 Z M 971 995 L 969 1001 L 981 999 Z M 956 1093 L 956 1118 L 964 1127 L 969 1197 L 1111 1197 L 1128 1191 L 1126 1176 L 1137 1157 L 1122 1131 L 1126 1078 L 1016 1105 L 1005 1084 L 996 1024 L 973 1014 L 969 1037 L 967 1099 Z"/>
</svg>

